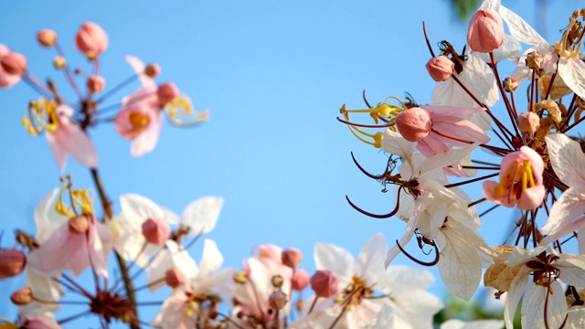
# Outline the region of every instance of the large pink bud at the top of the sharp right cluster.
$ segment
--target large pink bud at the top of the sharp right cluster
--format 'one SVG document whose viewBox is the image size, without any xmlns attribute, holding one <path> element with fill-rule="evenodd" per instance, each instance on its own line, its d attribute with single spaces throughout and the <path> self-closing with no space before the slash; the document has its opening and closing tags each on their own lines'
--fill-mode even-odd
<svg viewBox="0 0 585 329">
<path fill-rule="evenodd" d="M 504 21 L 492 9 L 480 9 L 472 16 L 467 43 L 473 51 L 492 52 L 504 43 Z"/>
</svg>

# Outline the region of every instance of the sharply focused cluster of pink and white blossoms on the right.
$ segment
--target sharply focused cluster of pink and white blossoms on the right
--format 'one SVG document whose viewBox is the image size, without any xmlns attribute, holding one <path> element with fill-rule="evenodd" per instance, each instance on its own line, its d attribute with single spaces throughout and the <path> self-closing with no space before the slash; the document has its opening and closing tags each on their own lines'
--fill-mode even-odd
<svg viewBox="0 0 585 329">
<path fill-rule="evenodd" d="M 483 277 L 496 298 L 505 296 L 506 328 L 513 327 L 520 299 L 523 327 L 580 327 L 585 321 L 584 23 L 585 9 L 576 10 L 560 40 L 550 44 L 499 0 L 485 0 L 471 18 L 463 53 L 441 41 L 436 54 L 423 25 L 431 52 L 426 68 L 437 81 L 430 105 L 390 97 L 372 107 L 364 96 L 367 109 L 340 110 L 339 121 L 352 133 L 388 154 L 381 175 L 354 162 L 385 186 L 383 192 L 396 186 L 394 210 L 372 214 L 347 199 L 367 216 L 406 222 L 386 266 L 400 252 L 437 265 L 447 288 L 466 301 Z M 502 79 L 498 64 L 505 59 L 516 69 Z M 515 98 L 522 86 L 526 102 Z M 368 112 L 375 124 L 351 121 L 355 112 Z M 473 200 L 463 186 L 484 197 Z M 476 207 L 484 204 L 493 207 L 480 216 Z M 510 213 L 516 239 L 490 247 L 478 228 L 495 207 L 517 209 Z M 434 250 L 434 260 L 404 249 L 413 236 L 421 250 Z"/>
</svg>

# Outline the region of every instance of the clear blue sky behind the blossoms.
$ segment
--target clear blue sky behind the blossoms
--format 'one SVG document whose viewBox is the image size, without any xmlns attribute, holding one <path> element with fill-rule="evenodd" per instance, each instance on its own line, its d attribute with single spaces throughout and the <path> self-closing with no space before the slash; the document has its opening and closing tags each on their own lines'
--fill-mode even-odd
<svg viewBox="0 0 585 329">
<path fill-rule="evenodd" d="M 528 22 L 539 15 L 533 1 L 504 4 Z M 547 7 L 542 22 L 552 40 L 579 5 L 565 0 Z M 139 158 L 130 155 L 130 144 L 111 123 L 90 130 L 114 208 L 119 210 L 117 197 L 124 193 L 176 213 L 198 197 L 223 196 L 218 226 L 206 238 L 218 242 L 224 266 L 240 267 L 253 246 L 273 243 L 302 249 L 303 266 L 314 271 L 315 242 L 356 254 L 377 232 L 388 243 L 402 236 L 405 226 L 398 219 L 366 218 L 347 205 L 346 195 L 382 213 L 394 207 L 394 198 L 379 193 L 381 186 L 357 170 L 350 152 L 373 172 L 383 170 L 384 156 L 359 143 L 335 117 L 344 103 L 363 107 L 362 90 L 371 103 L 403 98 L 407 91 L 419 103 L 430 102 L 434 82 L 424 69 L 430 55 L 423 20 L 432 45 L 446 39 L 463 48 L 467 25 L 454 18 L 447 1 L 2 2 L 0 44 L 26 55 L 33 74 L 55 78 L 71 98 L 51 66 L 55 53 L 37 45 L 41 28 L 56 30 L 69 65 L 87 70 L 73 37 L 84 21 L 100 24 L 110 36 L 101 58 L 106 89 L 133 73 L 125 55 L 158 63 L 158 81 L 174 81 L 197 110 L 209 109 L 210 120 L 189 129 L 165 123 L 154 152 Z M 136 87 L 105 103 L 120 102 Z M 35 231 L 36 203 L 58 186 L 60 173 L 44 136 L 27 135 L 19 123 L 27 102 L 36 99 L 24 83 L 0 90 L 3 247 L 12 246 L 15 228 Z M 69 160 L 66 173 L 77 186 L 92 187 L 79 164 Z M 501 228 L 508 225 L 484 220 L 482 231 L 489 242 L 500 243 Z M 200 258 L 200 246 L 193 255 Z M 397 262 L 414 266 L 403 258 Z M 12 292 L 22 284 L 20 278 L 0 287 Z M 444 293 L 441 284 L 433 292 Z M 150 312 L 146 321 L 154 316 Z M 14 314 L 13 306 L 0 302 L 0 316 Z"/>
</svg>

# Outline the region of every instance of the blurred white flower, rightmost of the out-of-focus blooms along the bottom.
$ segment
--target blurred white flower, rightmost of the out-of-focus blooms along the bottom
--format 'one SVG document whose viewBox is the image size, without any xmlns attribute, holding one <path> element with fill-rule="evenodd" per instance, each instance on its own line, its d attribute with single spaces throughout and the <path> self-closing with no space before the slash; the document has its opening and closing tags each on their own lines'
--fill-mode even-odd
<svg viewBox="0 0 585 329">
<path fill-rule="evenodd" d="M 326 317 L 335 319 L 344 312 L 340 323 L 348 328 L 371 324 L 395 328 L 432 327 L 432 315 L 441 309 L 442 303 L 425 291 L 433 282 L 431 274 L 403 266 L 391 266 L 385 271 L 384 250 L 387 248 L 381 234 L 366 241 L 357 259 L 334 245 L 315 245 L 316 269 L 335 271 L 339 279 L 340 293 L 336 302 L 323 305 Z M 388 297 L 373 299 L 375 291 Z"/>
</svg>

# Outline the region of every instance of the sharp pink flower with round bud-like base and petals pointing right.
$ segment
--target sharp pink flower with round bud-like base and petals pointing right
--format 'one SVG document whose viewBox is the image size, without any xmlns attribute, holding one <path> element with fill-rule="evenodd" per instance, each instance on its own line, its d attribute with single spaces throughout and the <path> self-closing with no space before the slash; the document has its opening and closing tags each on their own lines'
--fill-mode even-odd
<svg viewBox="0 0 585 329">
<path fill-rule="evenodd" d="M 489 142 L 490 137 L 480 127 L 462 118 L 479 111 L 485 110 L 455 106 L 414 107 L 400 112 L 396 125 L 404 139 L 418 142 L 417 150 L 430 158 L 451 150 L 453 145 Z"/>
</svg>

